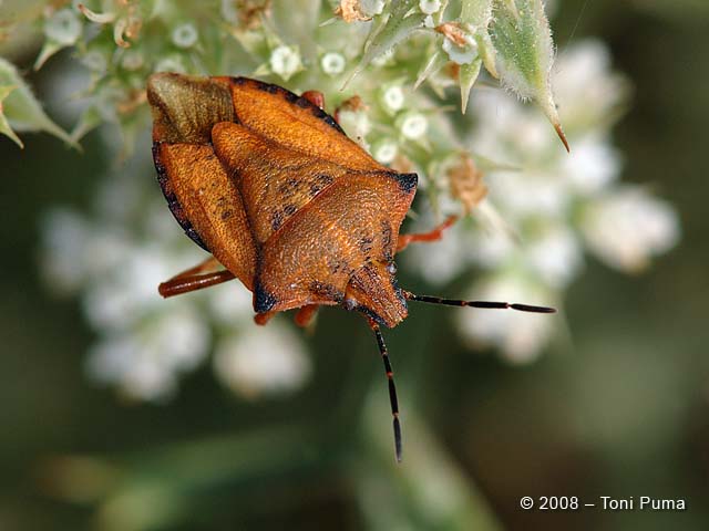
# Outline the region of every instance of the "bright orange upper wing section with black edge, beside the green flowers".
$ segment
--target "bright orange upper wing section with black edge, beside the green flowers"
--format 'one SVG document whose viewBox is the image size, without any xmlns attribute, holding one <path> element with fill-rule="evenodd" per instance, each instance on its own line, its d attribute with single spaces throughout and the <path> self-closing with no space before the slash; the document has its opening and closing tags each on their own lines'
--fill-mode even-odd
<svg viewBox="0 0 709 531">
<path fill-rule="evenodd" d="M 280 86 L 246 77 L 230 83 L 237 121 L 281 146 L 357 170 L 382 170 L 335 119 L 309 101 Z"/>
</svg>

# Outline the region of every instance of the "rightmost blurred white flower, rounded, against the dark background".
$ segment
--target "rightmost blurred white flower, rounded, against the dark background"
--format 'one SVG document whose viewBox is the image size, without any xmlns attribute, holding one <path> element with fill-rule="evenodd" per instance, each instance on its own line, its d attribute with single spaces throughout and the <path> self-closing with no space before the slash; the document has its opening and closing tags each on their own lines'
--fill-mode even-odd
<svg viewBox="0 0 709 531">
<path fill-rule="evenodd" d="M 644 269 L 651 257 L 679 240 L 675 210 L 637 186 L 626 186 L 586 206 L 582 230 L 598 258 L 627 272 Z"/>
</svg>

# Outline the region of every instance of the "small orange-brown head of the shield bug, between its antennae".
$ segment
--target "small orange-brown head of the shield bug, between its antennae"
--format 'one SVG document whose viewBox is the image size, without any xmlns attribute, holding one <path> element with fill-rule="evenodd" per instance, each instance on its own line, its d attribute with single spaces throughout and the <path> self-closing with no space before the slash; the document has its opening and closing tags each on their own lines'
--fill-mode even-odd
<svg viewBox="0 0 709 531">
<path fill-rule="evenodd" d="M 372 262 L 350 278 L 342 305 L 359 311 L 377 323 L 393 327 L 409 314 L 404 292 L 397 284 L 393 261 Z"/>
</svg>

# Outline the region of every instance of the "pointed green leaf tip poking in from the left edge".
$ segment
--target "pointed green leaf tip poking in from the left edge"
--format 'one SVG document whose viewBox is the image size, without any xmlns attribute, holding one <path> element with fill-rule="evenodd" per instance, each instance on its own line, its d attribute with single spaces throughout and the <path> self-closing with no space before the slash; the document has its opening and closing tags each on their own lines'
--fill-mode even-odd
<svg viewBox="0 0 709 531">
<path fill-rule="evenodd" d="M 2 121 L 13 131 L 43 131 L 79 149 L 79 145 L 44 113 L 42 106 L 12 63 L 0 58 L 0 87 L 13 87 L 2 98 Z M 11 129 L 11 131 L 12 131 Z M 3 134 L 18 142 L 14 134 Z M 17 139 L 16 139 L 17 138 Z M 20 143 L 21 145 L 21 143 Z"/>
</svg>

